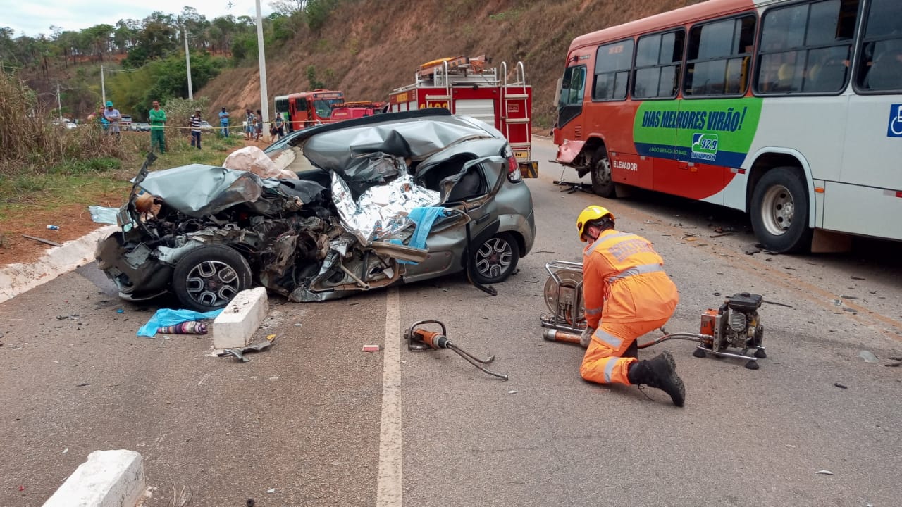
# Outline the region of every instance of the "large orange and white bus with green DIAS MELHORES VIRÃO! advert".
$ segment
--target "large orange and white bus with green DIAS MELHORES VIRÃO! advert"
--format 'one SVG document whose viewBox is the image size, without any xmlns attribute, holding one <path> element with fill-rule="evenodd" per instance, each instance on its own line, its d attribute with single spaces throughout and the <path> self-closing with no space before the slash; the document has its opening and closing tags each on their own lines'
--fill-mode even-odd
<svg viewBox="0 0 902 507">
<path fill-rule="evenodd" d="M 750 214 L 775 252 L 902 240 L 902 1 L 709 0 L 577 37 L 557 162 Z"/>
</svg>

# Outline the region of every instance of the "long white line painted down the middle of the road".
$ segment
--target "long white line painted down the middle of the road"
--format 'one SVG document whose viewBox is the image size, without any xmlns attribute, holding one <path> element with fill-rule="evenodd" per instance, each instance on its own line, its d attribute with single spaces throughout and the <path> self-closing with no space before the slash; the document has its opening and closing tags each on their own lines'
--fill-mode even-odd
<svg viewBox="0 0 902 507">
<path fill-rule="evenodd" d="M 382 355 L 382 426 L 379 431 L 379 479 L 376 507 L 401 505 L 400 296 L 385 298 L 385 347 Z"/>
</svg>

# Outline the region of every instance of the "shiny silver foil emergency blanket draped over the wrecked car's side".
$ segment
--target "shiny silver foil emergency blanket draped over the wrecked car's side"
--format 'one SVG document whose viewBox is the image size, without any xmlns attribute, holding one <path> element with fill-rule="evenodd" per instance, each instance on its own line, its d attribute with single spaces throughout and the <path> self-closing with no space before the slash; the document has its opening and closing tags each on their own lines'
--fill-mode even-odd
<svg viewBox="0 0 902 507">
<path fill-rule="evenodd" d="M 341 225 L 361 244 L 398 233 L 412 224 L 408 215 L 413 208 L 435 206 L 440 199 L 437 191 L 420 187 L 404 173 L 385 185 L 366 189 L 354 202 L 345 180 L 332 173 L 332 202 Z"/>
</svg>

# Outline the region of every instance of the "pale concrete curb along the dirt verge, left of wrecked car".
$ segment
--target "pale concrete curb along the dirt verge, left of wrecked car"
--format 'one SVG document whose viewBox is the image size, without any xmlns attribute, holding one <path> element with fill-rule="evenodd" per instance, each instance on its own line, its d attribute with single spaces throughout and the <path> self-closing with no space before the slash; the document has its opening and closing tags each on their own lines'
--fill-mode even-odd
<svg viewBox="0 0 902 507">
<path fill-rule="evenodd" d="M 93 261 L 97 240 L 117 230 L 118 226 L 103 226 L 62 246 L 54 246 L 34 263 L 3 266 L 0 268 L 0 303 Z"/>
</svg>

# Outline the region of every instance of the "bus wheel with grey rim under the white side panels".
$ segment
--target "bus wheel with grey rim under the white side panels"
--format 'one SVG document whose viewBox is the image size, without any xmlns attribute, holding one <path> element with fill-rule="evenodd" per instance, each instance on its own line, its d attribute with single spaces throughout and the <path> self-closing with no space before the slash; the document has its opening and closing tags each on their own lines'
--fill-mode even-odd
<svg viewBox="0 0 902 507">
<path fill-rule="evenodd" d="M 810 247 L 808 194 L 801 171 L 778 167 L 761 177 L 751 195 L 751 227 L 771 252 L 798 252 Z"/>
</svg>

